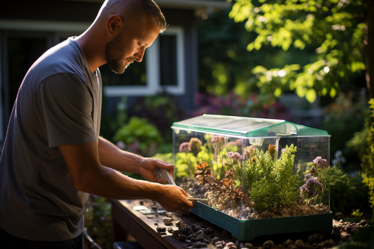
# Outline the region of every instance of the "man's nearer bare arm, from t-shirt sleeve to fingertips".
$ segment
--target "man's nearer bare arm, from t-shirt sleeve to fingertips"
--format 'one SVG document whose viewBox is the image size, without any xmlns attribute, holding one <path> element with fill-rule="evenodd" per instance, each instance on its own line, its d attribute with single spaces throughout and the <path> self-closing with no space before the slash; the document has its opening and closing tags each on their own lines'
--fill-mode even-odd
<svg viewBox="0 0 374 249">
<path fill-rule="evenodd" d="M 187 212 L 192 208 L 188 194 L 175 185 L 135 180 L 99 161 L 97 143 L 58 146 L 72 175 L 75 188 L 112 199 L 147 198 L 168 211 Z"/>
</svg>

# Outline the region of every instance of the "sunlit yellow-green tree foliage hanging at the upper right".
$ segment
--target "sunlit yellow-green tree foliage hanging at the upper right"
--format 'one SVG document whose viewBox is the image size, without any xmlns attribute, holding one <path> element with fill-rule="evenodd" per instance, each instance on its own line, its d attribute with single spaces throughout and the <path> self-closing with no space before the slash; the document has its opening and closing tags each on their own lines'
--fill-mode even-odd
<svg viewBox="0 0 374 249">
<path fill-rule="evenodd" d="M 314 102 L 317 94 L 336 96 L 341 80 L 365 69 L 367 87 L 374 96 L 370 81 L 374 78 L 374 17 L 365 16 L 365 7 L 373 13 L 371 0 L 236 0 L 229 17 L 236 22 L 246 20 L 245 29 L 257 33 L 248 51 L 269 44 L 284 51 L 291 45 L 299 50 L 316 48 L 311 63 L 303 66 L 252 69 L 258 87 L 270 87 L 275 96 L 295 91 Z"/>
</svg>

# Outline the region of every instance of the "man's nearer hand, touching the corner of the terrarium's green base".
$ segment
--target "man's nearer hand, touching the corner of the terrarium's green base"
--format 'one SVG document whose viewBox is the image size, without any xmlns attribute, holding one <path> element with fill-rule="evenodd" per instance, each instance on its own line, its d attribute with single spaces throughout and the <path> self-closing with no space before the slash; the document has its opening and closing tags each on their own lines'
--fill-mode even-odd
<svg viewBox="0 0 374 249">
<path fill-rule="evenodd" d="M 187 194 L 181 187 L 176 185 L 163 185 L 156 201 L 170 212 L 188 212 L 193 207 L 186 196 Z"/>
</svg>

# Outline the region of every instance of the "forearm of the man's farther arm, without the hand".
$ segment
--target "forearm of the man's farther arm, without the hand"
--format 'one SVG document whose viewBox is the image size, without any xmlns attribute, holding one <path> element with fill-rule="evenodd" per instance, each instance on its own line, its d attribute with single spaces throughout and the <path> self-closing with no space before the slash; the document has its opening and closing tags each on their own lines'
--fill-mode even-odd
<svg viewBox="0 0 374 249">
<path fill-rule="evenodd" d="M 99 138 L 98 150 L 102 165 L 118 171 L 139 173 L 139 165 L 144 157 L 122 151 L 103 137 Z"/>
</svg>

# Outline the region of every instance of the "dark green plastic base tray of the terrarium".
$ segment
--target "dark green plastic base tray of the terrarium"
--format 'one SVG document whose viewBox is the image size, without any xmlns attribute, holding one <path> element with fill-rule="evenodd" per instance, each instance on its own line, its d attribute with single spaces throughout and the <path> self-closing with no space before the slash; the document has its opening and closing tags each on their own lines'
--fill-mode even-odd
<svg viewBox="0 0 374 249">
<path fill-rule="evenodd" d="M 281 218 L 239 220 L 203 203 L 195 202 L 190 212 L 231 232 L 240 241 L 253 241 L 267 234 L 320 231 L 330 233 L 333 230 L 333 213 L 291 216 Z"/>
</svg>

